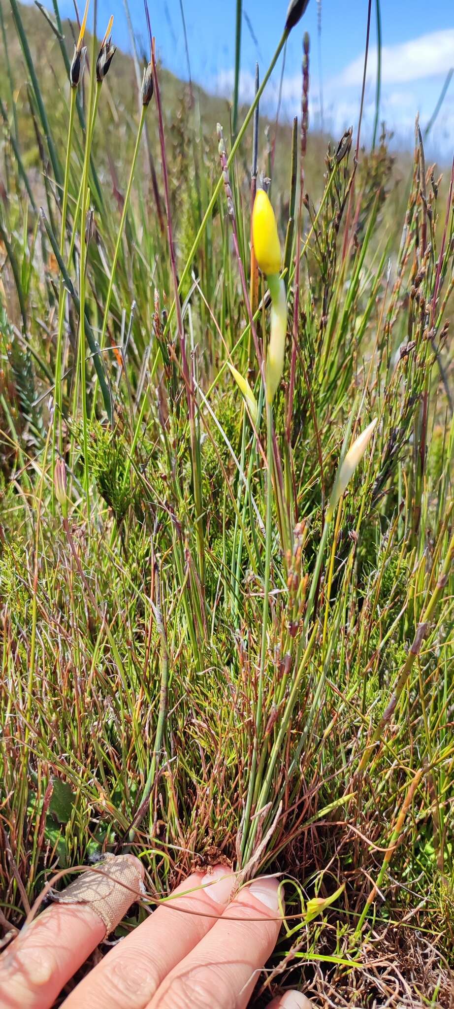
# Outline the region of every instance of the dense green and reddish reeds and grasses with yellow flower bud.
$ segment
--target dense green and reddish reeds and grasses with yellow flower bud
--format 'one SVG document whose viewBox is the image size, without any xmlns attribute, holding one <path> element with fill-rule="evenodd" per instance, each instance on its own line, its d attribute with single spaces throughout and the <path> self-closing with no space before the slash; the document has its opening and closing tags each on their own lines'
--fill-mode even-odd
<svg viewBox="0 0 454 1009">
<path fill-rule="evenodd" d="M 300 963 L 379 1000 L 385 963 L 443 1005 L 421 936 L 449 958 L 454 173 L 420 131 L 406 205 L 384 137 L 323 160 L 305 35 L 268 195 L 258 106 L 305 2 L 230 137 L 197 89 L 176 114 L 149 18 L 143 68 L 111 20 L 84 66 L 88 4 L 72 61 L 55 4 L 55 100 L 11 7 L 0 923 L 100 851 L 158 892 L 223 858 L 287 880 L 264 998 Z"/>
</svg>

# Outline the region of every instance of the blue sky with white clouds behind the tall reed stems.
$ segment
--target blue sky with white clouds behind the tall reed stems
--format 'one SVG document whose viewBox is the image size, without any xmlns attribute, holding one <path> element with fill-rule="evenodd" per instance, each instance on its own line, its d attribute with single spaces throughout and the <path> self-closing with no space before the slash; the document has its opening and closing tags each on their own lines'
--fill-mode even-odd
<svg viewBox="0 0 454 1009">
<path fill-rule="evenodd" d="M 79 0 L 82 6 L 82 0 Z M 46 6 L 51 7 L 50 0 Z M 142 0 L 129 0 L 137 36 L 145 41 Z M 381 115 L 400 144 L 413 142 L 419 111 L 424 125 L 431 116 L 444 79 L 454 67 L 453 0 L 381 0 L 382 103 Z M 207 90 L 230 95 L 235 52 L 236 0 L 183 0 L 193 78 Z M 374 108 L 376 69 L 375 3 L 372 3 L 369 75 L 364 128 L 370 129 Z M 158 53 L 169 70 L 188 76 L 181 0 L 149 0 L 152 31 Z M 243 0 L 241 92 L 251 93 L 255 62 L 264 70 L 280 37 L 287 0 Z M 61 0 L 62 14 L 74 14 L 73 0 Z M 104 32 L 115 15 L 114 41 L 128 48 L 123 0 L 98 0 L 98 30 Z M 321 16 L 321 65 L 317 21 Z M 340 133 L 356 125 L 362 80 L 367 0 L 310 0 L 305 17 L 292 32 L 286 54 L 281 113 L 299 112 L 302 35 L 311 35 L 311 102 L 313 125 L 320 123 L 320 79 L 325 125 Z M 249 23 L 248 23 L 249 22 Z M 249 27 L 250 25 L 250 27 Z M 268 110 L 275 107 L 281 64 L 266 94 Z M 364 134 L 364 135 L 365 135 Z M 454 148 L 454 78 L 433 130 L 430 147 L 449 158 Z"/>
</svg>

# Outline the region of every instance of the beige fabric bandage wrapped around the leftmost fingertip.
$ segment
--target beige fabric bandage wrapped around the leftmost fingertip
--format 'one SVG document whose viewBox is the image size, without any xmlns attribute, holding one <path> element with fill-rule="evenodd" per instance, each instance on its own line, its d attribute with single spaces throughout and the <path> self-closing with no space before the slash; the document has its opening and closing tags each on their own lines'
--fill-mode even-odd
<svg viewBox="0 0 454 1009">
<path fill-rule="evenodd" d="M 94 872 L 94 870 L 97 870 Z M 125 855 L 108 855 L 102 862 L 54 895 L 60 904 L 87 904 L 112 932 L 128 907 L 140 894 L 143 884 L 140 867 Z"/>
</svg>

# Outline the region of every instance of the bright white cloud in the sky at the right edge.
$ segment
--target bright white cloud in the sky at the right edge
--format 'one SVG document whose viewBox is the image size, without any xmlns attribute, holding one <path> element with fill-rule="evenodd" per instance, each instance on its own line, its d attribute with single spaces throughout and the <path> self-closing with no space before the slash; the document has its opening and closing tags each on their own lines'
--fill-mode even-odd
<svg viewBox="0 0 454 1009">
<path fill-rule="evenodd" d="M 369 50 L 367 77 L 376 77 L 377 50 Z M 454 28 L 430 31 L 419 38 L 396 45 L 383 45 L 381 49 L 381 79 L 383 84 L 401 84 L 421 81 L 428 77 L 447 74 L 454 66 Z M 348 64 L 339 76 L 339 84 L 361 85 L 364 57 Z"/>
</svg>

